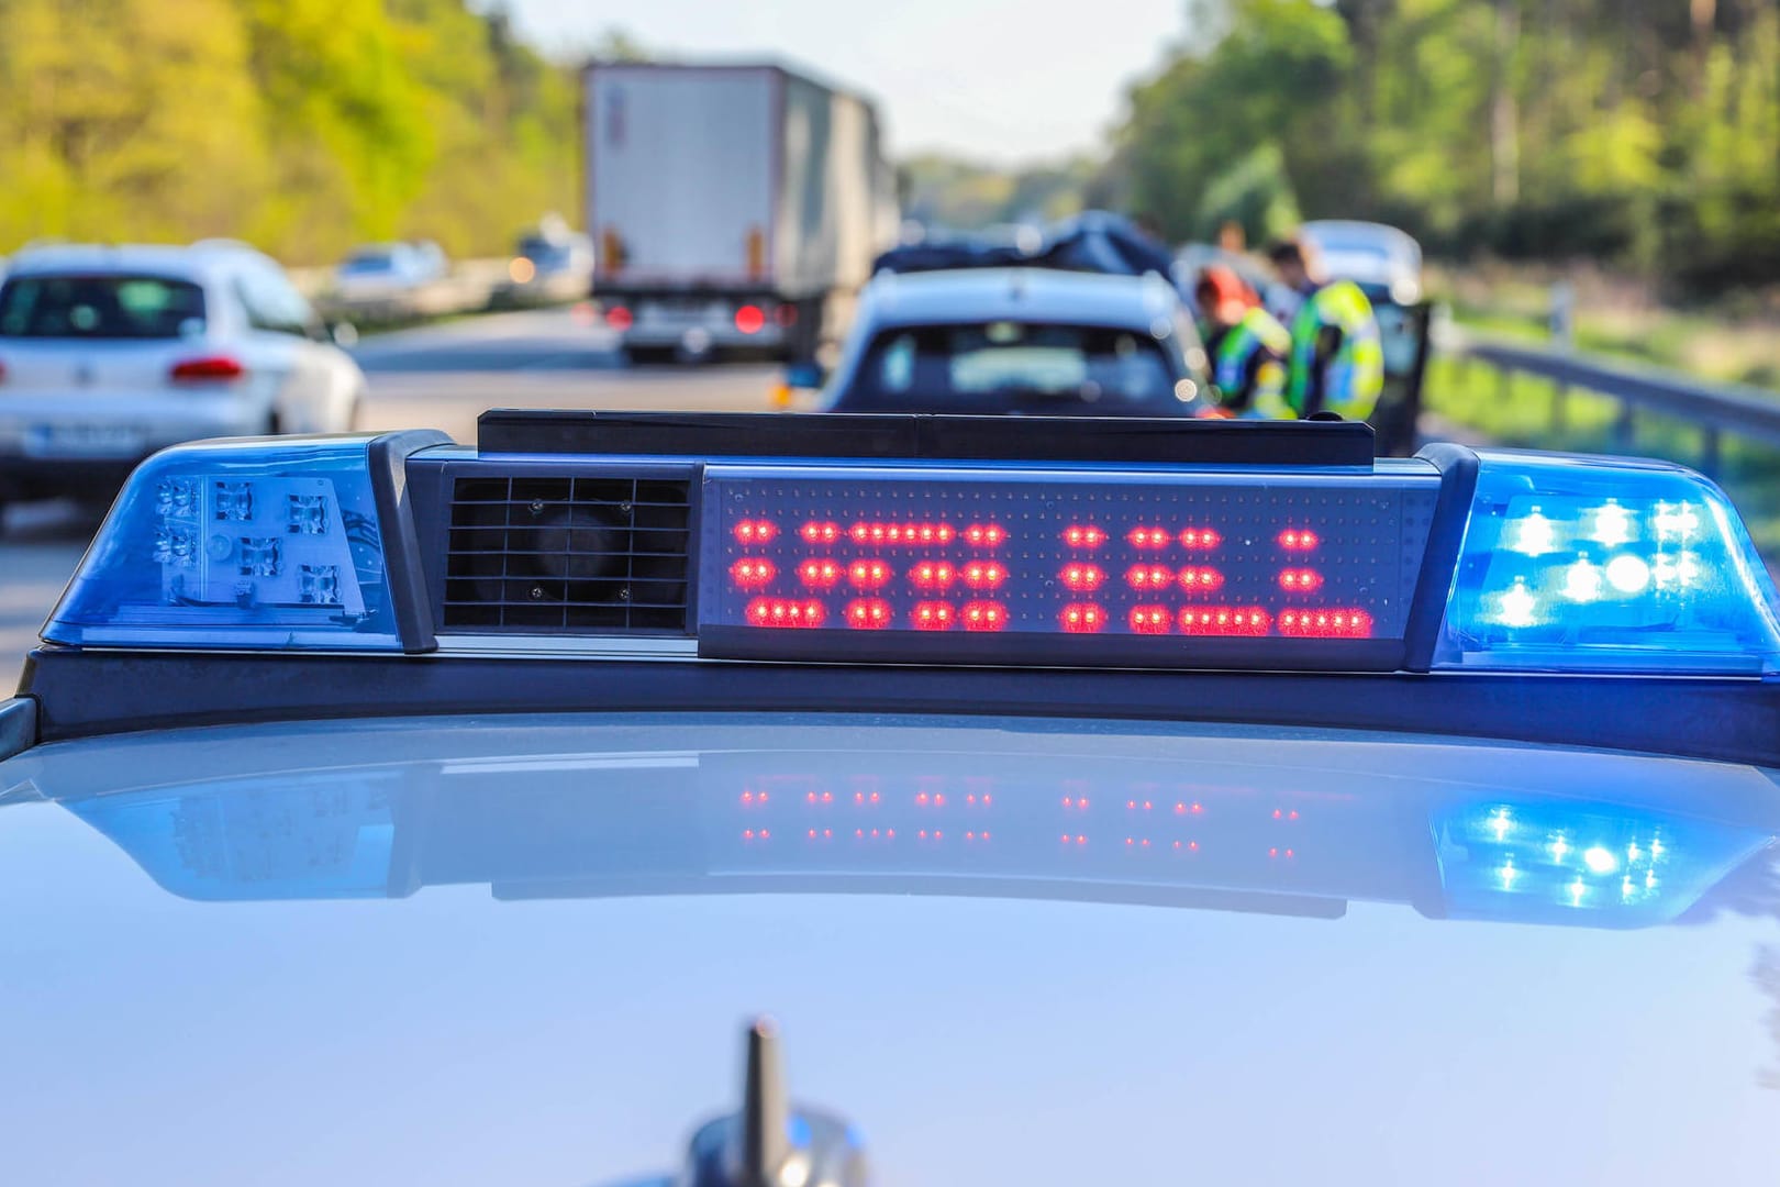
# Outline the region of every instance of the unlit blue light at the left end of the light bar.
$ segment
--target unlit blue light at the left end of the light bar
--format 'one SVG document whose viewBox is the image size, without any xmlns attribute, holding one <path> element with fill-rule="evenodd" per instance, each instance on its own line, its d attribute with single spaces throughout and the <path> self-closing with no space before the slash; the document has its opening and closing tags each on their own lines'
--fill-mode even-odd
<svg viewBox="0 0 1780 1187">
<path fill-rule="evenodd" d="M 368 441 L 212 441 L 155 454 L 117 497 L 43 637 L 399 651 Z"/>
</svg>

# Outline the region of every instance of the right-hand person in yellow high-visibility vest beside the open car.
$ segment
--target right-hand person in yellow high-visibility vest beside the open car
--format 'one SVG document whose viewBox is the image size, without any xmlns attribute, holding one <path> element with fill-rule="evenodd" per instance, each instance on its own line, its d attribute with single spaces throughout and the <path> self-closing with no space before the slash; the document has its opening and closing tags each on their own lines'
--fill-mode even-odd
<svg viewBox="0 0 1780 1187">
<path fill-rule="evenodd" d="M 1299 416 L 1321 411 L 1367 420 L 1385 390 L 1385 347 L 1372 303 L 1353 281 L 1324 281 L 1315 247 L 1285 240 L 1267 253 L 1303 304 L 1292 317 L 1285 400 Z"/>
</svg>

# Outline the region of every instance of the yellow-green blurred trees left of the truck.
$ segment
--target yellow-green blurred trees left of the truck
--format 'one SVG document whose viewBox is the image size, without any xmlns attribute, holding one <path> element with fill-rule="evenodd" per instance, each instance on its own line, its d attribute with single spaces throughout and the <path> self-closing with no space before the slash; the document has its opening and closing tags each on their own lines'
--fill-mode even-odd
<svg viewBox="0 0 1780 1187">
<path fill-rule="evenodd" d="M 0 253 L 504 251 L 577 196 L 575 78 L 465 0 L 0 0 Z"/>
</svg>

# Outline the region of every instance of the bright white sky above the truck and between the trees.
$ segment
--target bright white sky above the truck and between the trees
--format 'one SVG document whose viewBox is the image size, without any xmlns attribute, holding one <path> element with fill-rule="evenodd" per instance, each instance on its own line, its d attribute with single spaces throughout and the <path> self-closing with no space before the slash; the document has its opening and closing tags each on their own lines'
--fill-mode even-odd
<svg viewBox="0 0 1780 1187">
<path fill-rule="evenodd" d="M 550 55 L 621 28 L 660 57 L 774 57 L 879 101 L 890 151 L 1093 149 L 1185 32 L 1182 0 L 507 0 Z"/>
</svg>

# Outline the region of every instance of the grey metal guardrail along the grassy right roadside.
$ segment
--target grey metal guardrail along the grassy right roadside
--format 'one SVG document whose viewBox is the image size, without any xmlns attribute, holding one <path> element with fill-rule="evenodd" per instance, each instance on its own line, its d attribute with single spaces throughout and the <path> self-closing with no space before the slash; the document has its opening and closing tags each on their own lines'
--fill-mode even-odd
<svg viewBox="0 0 1780 1187">
<path fill-rule="evenodd" d="M 1444 326 L 1436 347 L 1451 358 L 1495 368 L 1502 397 L 1515 374 L 1552 383 L 1552 429 L 1565 427 L 1565 397 L 1572 388 L 1616 400 L 1620 413 L 1613 434 L 1616 448 L 1634 452 L 1638 413 L 1679 420 L 1700 431 L 1700 468 L 1719 466 L 1723 434 L 1780 447 L 1780 393 L 1746 384 L 1707 383 L 1657 367 L 1639 367 L 1579 354 L 1577 351 L 1520 342 Z"/>
</svg>

